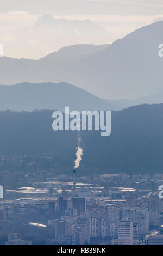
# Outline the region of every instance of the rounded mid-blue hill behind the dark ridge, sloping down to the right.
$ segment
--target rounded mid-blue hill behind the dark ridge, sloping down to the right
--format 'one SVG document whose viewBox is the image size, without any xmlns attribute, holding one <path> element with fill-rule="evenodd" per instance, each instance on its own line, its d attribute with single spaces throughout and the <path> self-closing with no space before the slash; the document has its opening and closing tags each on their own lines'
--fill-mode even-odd
<svg viewBox="0 0 163 256">
<path fill-rule="evenodd" d="M 21 83 L 0 86 L 0 111 L 33 111 L 35 109 L 107 110 L 104 100 L 68 83 Z"/>
</svg>

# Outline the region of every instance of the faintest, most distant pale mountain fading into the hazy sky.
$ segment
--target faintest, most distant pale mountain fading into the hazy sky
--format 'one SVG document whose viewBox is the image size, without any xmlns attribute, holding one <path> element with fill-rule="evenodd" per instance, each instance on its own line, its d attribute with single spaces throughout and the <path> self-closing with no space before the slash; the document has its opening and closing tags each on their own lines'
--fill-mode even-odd
<svg viewBox="0 0 163 256">
<path fill-rule="evenodd" d="M 28 27 L 12 29 L 9 36 L 10 41 L 2 35 L 1 43 L 12 58 L 39 59 L 64 46 L 111 42 L 108 30 L 97 22 L 56 19 L 51 15 L 40 16 Z"/>
</svg>

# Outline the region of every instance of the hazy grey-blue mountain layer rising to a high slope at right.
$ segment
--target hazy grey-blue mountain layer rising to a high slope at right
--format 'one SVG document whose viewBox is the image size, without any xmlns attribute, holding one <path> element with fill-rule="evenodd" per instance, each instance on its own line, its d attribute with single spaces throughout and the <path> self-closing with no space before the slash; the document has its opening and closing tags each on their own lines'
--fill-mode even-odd
<svg viewBox="0 0 163 256">
<path fill-rule="evenodd" d="M 0 58 L 0 83 L 66 81 L 105 99 L 137 99 L 162 92 L 163 21 L 137 29 L 109 47 L 58 60 Z M 67 52 L 70 48 L 66 49 Z M 71 48 L 72 50 L 72 48 Z M 69 53 L 68 53 L 69 54 Z"/>
</svg>

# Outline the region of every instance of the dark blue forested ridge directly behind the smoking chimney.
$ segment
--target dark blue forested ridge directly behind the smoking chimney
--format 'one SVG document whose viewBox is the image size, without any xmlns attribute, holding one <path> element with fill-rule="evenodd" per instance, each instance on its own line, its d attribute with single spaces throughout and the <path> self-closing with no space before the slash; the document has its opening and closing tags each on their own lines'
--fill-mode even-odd
<svg viewBox="0 0 163 256">
<path fill-rule="evenodd" d="M 77 132 L 53 131 L 52 113 L 1 111 L 0 155 L 51 153 L 53 159 L 47 158 L 46 170 L 71 173 Z M 109 137 L 101 137 L 100 131 L 80 131 L 84 154 L 79 174 L 161 173 L 162 113 L 163 104 L 130 107 L 112 112 Z"/>
</svg>

